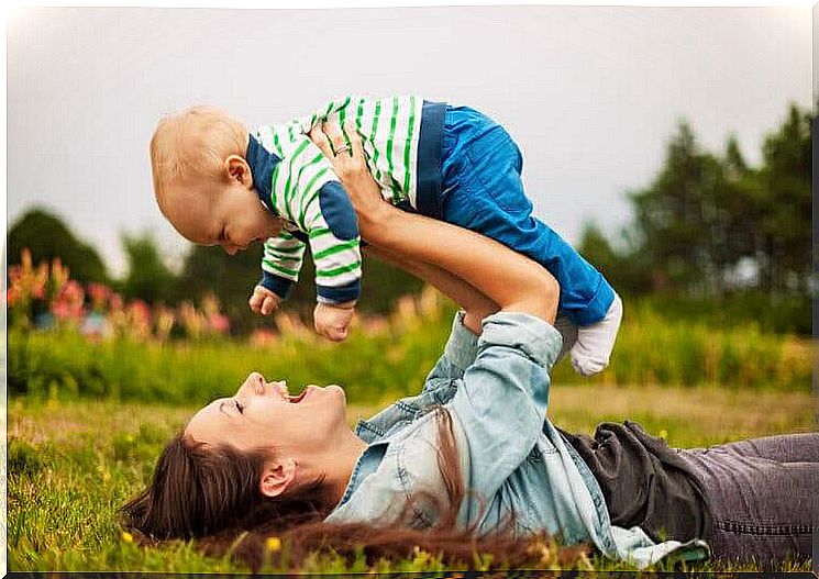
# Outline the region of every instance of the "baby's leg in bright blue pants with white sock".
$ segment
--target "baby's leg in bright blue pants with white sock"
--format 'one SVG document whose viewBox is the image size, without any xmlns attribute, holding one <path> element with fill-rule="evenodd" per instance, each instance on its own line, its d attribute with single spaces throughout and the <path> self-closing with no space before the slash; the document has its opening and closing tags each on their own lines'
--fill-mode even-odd
<svg viewBox="0 0 819 579">
<path fill-rule="evenodd" d="M 473 123 L 468 131 L 449 143 L 444 137 L 444 221 L 491 237 L 552 272 L 561 285 L 561 312 L 579 326 L 572 366 L 583 375 L 602 370 L 620 326 L 619 298 L 574 247 L 532 216 L 520 177 L 522 158 L 508 133 L 491 122 Z"/>
</svg>

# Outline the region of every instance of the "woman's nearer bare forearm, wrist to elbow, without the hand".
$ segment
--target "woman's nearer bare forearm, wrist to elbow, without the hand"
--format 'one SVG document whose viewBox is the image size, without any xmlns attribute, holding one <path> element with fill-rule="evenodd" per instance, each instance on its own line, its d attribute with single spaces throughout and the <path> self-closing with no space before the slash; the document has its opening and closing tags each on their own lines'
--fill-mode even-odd
<svg viewBox="0 0 819 579">
<path fill-rule="evenodd" d="M 532 313 L 554 322 L 560 288 L 551 274 L 534 261 L 488 237 L 401 211 L 380 200 L 359 209 L 362 236 L 373 245 L 401 260 L 439 266 L 503 310 Z"/>
</svg>

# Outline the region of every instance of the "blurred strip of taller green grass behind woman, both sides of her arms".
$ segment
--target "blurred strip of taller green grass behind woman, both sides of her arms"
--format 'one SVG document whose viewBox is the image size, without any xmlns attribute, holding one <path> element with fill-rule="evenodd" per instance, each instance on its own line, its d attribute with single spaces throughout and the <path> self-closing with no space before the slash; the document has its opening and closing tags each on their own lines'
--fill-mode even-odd
<svg viewBox="0 0 819 579">
<path fill-rule="evenodd" d="M 809 390 L 811 364 L 806 341 L 764 333 L 752 323 L 721 327 L 675 320 L 657 311 L 658 303 L 627 301 L 606 371 L 584 379 L 563 363 L 554 370 L 555 382 L 727 383 Z M 265 346 L 248 346 L 237 339 L 89 343 L 68 330 L 12 331 L 9 391 L 38 399 L 81 396 L 201 403 L 232 393 L 248 372 L 258 370 L 295 386 L 340 383 L 351 401 L 377 402 L 416 392 L 449 335 L 450 308 L 432 307 L 421 313 L 406 310 L 389 321 L 363 321 L 337 345 L 320 341 L 307 329 L 286 331 Z"/>
</svg>

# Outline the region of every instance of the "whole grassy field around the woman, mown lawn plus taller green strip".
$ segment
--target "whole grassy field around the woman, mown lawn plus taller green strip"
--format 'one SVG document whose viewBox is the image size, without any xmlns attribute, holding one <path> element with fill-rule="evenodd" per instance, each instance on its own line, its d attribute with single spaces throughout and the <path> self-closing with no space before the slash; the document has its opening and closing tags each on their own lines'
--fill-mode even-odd
<svg viewBox="0 0 819 579">
<path fill-rule="evenodd" d="M 165 442 L 201 404 L 230 396 L 252 370 L 307 383 L 342 385 L 351 424 L 416 393 L 449 335 L 453 307 L 424 291 L 384 318 L 363 318 L 340 345 L 321 342 L 292 316 L 258 343 L 240 338 L 90 339 L 70 325 L 9 333 L 9 567 L 12 570 L 247 570 L 209 558 L 191 543 L 137 544 L 117 509 L 151 477 Z M 672 446 L 699 447 L 812 426 L 807 339 L 739 322 L 707 325 L 631 303 L 610 367 L 593 379 L 567 361 L 553 370 L 550 415 L 591 433 L 605 421 L 634 420 Z M 401 561 L 324 554 L 298 568 L 272 558 L 266 571 L 436 571 L 420 552 Z M 555 545 L 533 568 L 628 569 L 590 556 L 557 560 Z M 550 558 L 551 557 L 551 558 Z M 480 568 L 486 561 L 466 561 Z M 662 563 L 671 568 L 672 561 Z M 706 563 L 694 569 L 740 570 Z M 807 566 L 783 569 L 807 570 Z"/>
</svg>

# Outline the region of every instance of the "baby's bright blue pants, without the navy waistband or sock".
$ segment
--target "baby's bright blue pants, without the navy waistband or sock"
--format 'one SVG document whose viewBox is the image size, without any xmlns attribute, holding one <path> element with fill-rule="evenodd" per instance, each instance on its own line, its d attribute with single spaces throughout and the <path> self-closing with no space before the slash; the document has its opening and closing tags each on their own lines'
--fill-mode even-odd
<svg viewBox="0 0 819 579">
<path fill-rule="evenodd" d="M 509 133 L 468 107 L 446 107 L 441 166 L 443 220 L 534 259 L 561 283 L 560 309 L 588 325 L 606 315 L 615 291 L 602 275 L 532 215 L 523 157 Z"/>
</svg>

